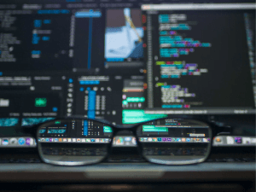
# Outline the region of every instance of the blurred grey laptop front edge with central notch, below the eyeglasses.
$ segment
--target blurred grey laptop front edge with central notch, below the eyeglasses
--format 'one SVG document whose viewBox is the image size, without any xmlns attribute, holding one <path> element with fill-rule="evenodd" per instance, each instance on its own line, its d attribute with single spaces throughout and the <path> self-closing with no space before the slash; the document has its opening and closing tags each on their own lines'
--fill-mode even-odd
<svg viewBox="0 0 256 192">
<path fill-rule="evenodd" d="M 202 163 L 159 166 L 150 163 L 102 163 L 93 166 L 0 164 L 0 182 L 255 182 L 255 163 Z"/>
</svg>

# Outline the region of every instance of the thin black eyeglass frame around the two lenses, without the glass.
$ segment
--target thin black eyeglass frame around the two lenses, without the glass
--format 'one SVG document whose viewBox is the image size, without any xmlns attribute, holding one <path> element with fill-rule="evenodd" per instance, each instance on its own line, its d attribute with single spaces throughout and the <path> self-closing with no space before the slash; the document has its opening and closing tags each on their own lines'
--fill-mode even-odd
<svg viewBox="0 0 256 192">
<path fill-rule="evenodd" d="M 144 160 L 147 160 L 149 163 L 153 163 L 153 164 L 158 164 L 158 165 L 163 165 L 163 166 L 181 166 L 181 165 L 193 165 L 193 164 L 198 164 L 201 162 L 204 162 L 205 160 L 207 160 L 209 154 L 211 154 L 211 148 L 212 148 L 212 127 L 216 127 L 217 125 L 213 124 L 212 122 L 208 122 L 205 119 L 190 119 L 190 118 L 186 118 L 186 117 L 180 117 L 180 116 L 174 116 L 173 118 L 160 118 L 160 119 L 151 119 L 148 121 L 143 121 L 140 123 L 137 123 L 135 125 L 131 125 L 131 126 L 124 126 L 124 125 L 113 125 L 113 123 L 111 123 L 110 121 L 106 120 L 106 119 L 90 119 L 90 118 L 85 118 L 85 117 L 64 117 L 63 119 L 58 118 L 58 119 L 51 119 L 49 121 L 45 121 L 43 123 L 40 123 L 38 125 L 32 125 L 32 126 L 24 126 L 22 127 L 22 132 L 27 133 L 27 134 L 32 134 L 32 137 L 34 137 L 38 143 L 38 129 L 44 125 L 44 124 L 49 124 L 52 121 L 60 121 L 60 120 L 68 120 L 68 119 L 81 119 L 81 120 L 92 120 L 95 121 L 97 123 L 102 123 L 108 126 L 111 126 L 112 131 L 113 131 L 113 135 L 111 136 L 111 142 L 107 143 L 108 147 L 107 147 L 107 155 L 100 160 L 99 162 L 95 162 L 95 163 L 84 163 L 84 162 L 66 162 L 66 163 L 61 163 L 60 161 L 56 161 L 55 163 L 52 163 L 52 160 L 44 160 L 44 157 L 42 156 L 43 152 L 41 150 L 41 148 L 39 148 L 39 145 L 37 144 L 37 148 L 38 148 L 38 154 L 40 156 L 40 159 L 44 161 L 44 163 L 49 164 L 49 165 L 55 165 L 55 166 L 90 166 L 90 165 L 95 165 L 95 164 L 99 164 L 104 160 L 108 159 L 109 156 L 109 152 L 111 150 L 111 148 L 113 147 L 113 138 L 116 137 L 119 133 L 119 131 L 131 131 L 131 133 L 133 134 L 133 137 L 136 137 L 136 141 L 137 141 L 137 149 L 138 149 L 138 153 L 143 157 Z M 137 137 L 137 128 L 140 125 L 144 125 L 150 122 L 154 122 L 156 120 L 161 120 L 161 119 L 188 119 L 188 120 L 194 120 L 197 121 L 201 124 L 205 124 L 208 126 L 208 130 L 209 130 L 209 137 L 211 138 L 210 143 L 207 147 L 207 155 L 205 156 L 205 158 L 200 159 L 200 160 L 185 160 L 185 161 L 173 161 L 175 163 L 172 164 L 160 164 L 160 163 L 155 163 L 152 162 L 150 160 L 148 160 L 144 155 L 143 155 L 143 146 L 142 143 L 139 141 L 139 137 Z M 53 160 L 55 161 L 55 160 Z"/>
</svg>

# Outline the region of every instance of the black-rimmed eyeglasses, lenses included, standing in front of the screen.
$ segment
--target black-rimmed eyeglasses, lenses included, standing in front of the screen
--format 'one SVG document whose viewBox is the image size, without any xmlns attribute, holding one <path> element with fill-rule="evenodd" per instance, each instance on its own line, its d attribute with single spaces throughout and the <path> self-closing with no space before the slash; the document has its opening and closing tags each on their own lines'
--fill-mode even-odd
<svg viewBox="0 0 256 192">
<path fill-rule="evenodd" d="M 155 119 L 131 127 L 105 120 L 55 119 L 38 125 L 35 131 L 41 159 L 61 166 L 107 159 L 119 131 L 131 131 L 142 157 L 162 165 L 201 163 L 212 146 L 212 128 L 195 119 Z"/>
</svg>

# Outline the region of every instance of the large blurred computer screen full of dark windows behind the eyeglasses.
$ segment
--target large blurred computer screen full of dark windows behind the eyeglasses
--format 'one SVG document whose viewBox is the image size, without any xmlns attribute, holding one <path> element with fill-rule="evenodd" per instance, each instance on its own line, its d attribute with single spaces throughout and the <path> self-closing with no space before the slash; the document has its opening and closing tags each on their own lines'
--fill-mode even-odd
<svg viewBox="0 0 256 192">
<path fill-rule="evenodd" d="M 225 2 L 2 0 L 0 128 L 254 113 L 255 4 Z"/>
</svg>

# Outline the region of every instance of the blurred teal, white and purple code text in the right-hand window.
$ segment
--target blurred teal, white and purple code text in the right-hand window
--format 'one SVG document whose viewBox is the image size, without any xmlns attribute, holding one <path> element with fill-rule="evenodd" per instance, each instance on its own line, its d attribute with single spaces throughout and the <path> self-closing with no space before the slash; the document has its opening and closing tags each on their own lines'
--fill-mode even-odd
<svg viewBox="0 0 256 192">
<path fill-rule="evenodd" d="M 198 48 L 208 49 L 211 43 L 202 43 L 198 39 L 189 37 L 188 31 L 196 29 L 196 22 L 189 21 L 187 15 L 172 14 L 158 15 L 159 19 L 159 47 L 160 58 L 169 58 L 169 61 L 155 61 L 160 67 L 159 79 L 180 79 L 183 76 L 200 76 L 208 73 L 207 68 L 199 68 L 201 63 L 173 61 L 174 58 L 193 54 Z M 189 93 L 188 87 L 181 84 L 171 85 L 171 82 L 156 83 L 161 90 L 161 108 L 190 108 L 186 102 L 188 97 L 194 97 L 195 93 Z M 197 102 L 201 105 L 202 102 Z M 194 104 L 195 105 L 195 104 Z"/>
</svg>

